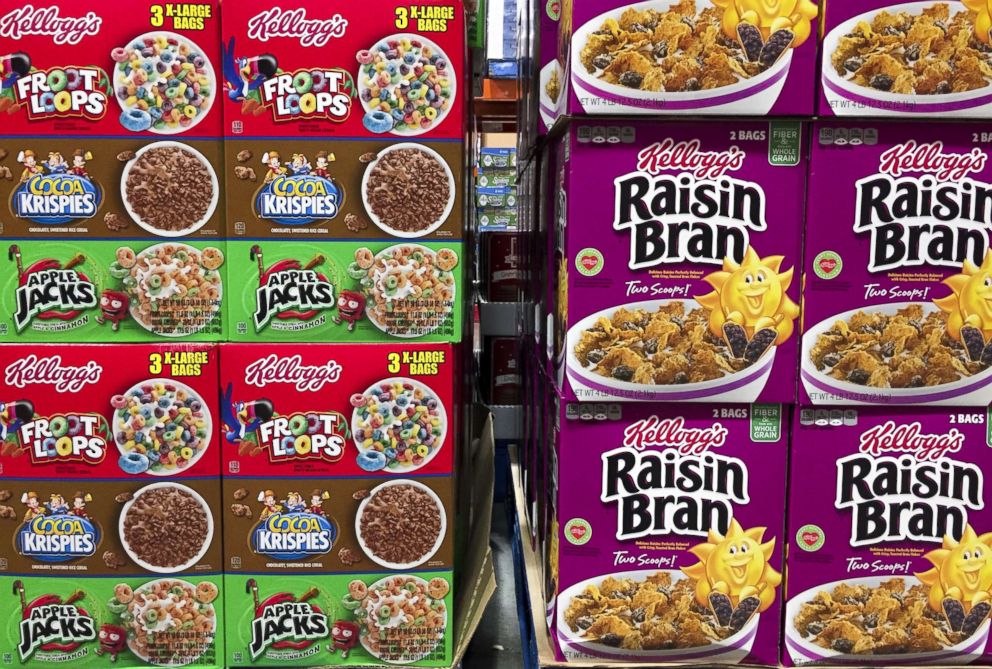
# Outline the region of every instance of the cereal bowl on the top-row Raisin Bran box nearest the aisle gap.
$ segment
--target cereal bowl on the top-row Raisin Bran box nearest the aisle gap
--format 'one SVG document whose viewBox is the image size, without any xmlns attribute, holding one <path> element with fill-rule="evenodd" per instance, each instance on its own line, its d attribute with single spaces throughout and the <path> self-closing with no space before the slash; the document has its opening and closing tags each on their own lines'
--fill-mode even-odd
<svg viewBox="0 0 992 669">
<path fill-rule="evenodd" d="M 756 31 L 745 49 L 722 31 L 722 18 L 708 0 L 650 0 L 588 21 L 572 36 L 569 63 L 579 103 L 588 113 L 767 114 L 789 74 L 795 34 Z M 663 24 L 671 26 L 658 30 Z M 654 37 L 673 31 L 684 34 Z"/>
</svg>

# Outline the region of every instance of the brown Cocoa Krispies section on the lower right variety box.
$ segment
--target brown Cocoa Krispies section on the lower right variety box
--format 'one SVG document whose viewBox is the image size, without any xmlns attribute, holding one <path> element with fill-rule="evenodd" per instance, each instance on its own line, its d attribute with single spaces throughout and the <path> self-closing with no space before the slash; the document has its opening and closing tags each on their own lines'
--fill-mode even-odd
<svg viewBox="0 0 992 669">
<path fill-rule="evenodd" d="M 451 569 L 450 476 L 224 479 L 228 573 Z"/>
</svg>

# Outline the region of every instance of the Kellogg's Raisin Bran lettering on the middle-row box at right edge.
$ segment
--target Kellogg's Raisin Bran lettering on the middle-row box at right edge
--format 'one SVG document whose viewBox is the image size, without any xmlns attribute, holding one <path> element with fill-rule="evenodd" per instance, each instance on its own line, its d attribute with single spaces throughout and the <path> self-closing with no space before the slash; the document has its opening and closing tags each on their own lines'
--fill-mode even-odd
<svg viewBox="0 0 992 669">
<path fill-rule="evenodd" d="M 868 270 L 982 264 L 992 228 L 992 186 L 979 148 L 947 153 L 910 140 L 886 150 L 878 173 L 856 182 L 854 231 L 871 239 Z M 906 176 L 915 174 L 917 176 Z"/>
</svg>

